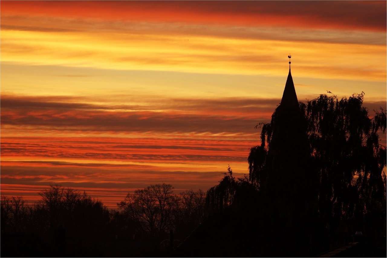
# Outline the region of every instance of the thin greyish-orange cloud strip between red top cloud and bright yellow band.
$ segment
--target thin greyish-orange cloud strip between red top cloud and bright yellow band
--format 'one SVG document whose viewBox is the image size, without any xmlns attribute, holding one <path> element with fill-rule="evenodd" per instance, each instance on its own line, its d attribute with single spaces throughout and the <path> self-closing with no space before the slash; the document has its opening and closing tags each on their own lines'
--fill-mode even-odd
<svg viewBox="0 0 387 258">
<path fill-rule="evenodd" d="M 356 29 L 310 29 L 288 26 L 241 26 L 224 24 L 197 24 L 184 22 L 104 21 L 2 15 L 2 30 L 38 32 L 113 32 L 119 34 L 179 35 L 188 40 L 192 36 L 211 36 L 231 39 L 266 39 L 281 41 L 311 41 L 327 43 L 386 44 L 385 31 Z"/>
</svg>

